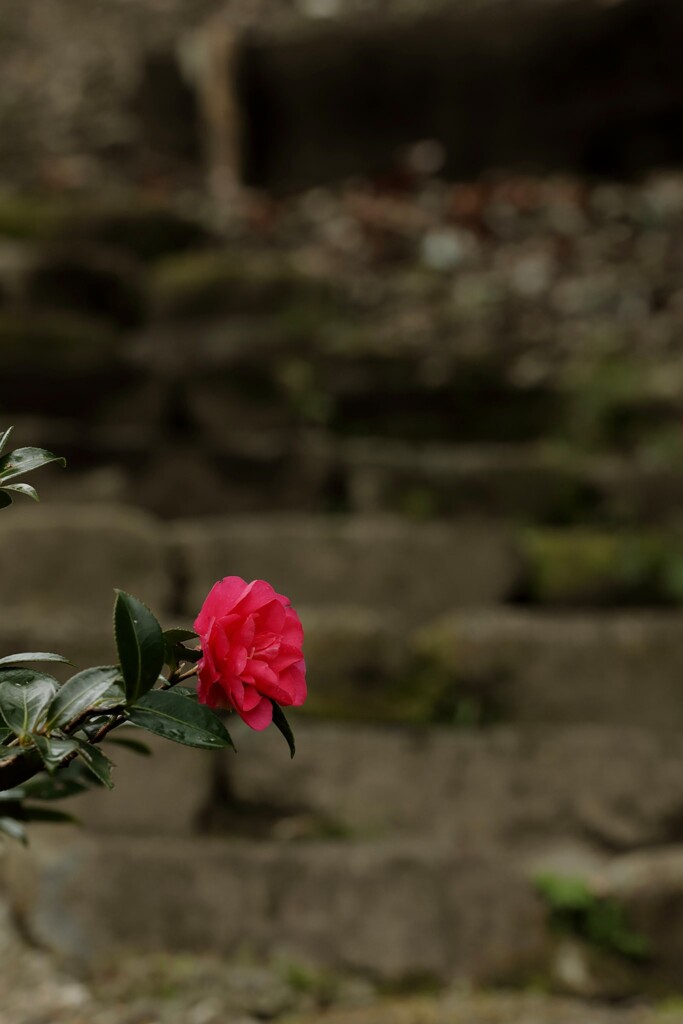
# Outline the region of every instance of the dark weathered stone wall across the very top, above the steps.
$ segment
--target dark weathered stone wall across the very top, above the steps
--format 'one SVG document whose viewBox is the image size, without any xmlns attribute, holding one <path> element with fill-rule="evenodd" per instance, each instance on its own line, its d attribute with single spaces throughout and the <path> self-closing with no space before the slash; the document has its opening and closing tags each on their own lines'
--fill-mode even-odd
<svg viewBox="0 0 683 1024">
<path fill-rule="evenodd" d="M 675 0 L 3 0 L 0 183 L 202 194 L 227 145 L 300 188 L 424 139 L 454 178 L 639 173 L 683 158 L 682 34 Z"/>
</svg>

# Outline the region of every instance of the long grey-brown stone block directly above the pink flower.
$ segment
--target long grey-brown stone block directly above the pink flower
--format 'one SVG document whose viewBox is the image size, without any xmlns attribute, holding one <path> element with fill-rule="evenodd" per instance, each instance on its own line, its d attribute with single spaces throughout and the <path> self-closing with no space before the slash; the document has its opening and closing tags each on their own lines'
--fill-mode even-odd
<svg viewBox="0 0 683 1024">
<path fill-rule="evenodd" d="M 297 605 L 355 604 L 424 620 L 444 607 L 498 601 L 514 556 L 496 524 L 399 519 L 252 517 L 180 524 L 175 551 L 187 573 L 186 608 L 217 579 L 265 579 Z"/>
</svg>

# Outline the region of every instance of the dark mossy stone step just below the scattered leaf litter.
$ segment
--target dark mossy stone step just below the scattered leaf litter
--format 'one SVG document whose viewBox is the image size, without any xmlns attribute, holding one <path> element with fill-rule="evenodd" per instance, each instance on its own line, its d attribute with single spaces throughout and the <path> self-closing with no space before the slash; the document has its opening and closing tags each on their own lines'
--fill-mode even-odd
<svg viewBox="0 0 683 1024">
<path fill-rule="evenodd" d="M 399 294 L 401 280 L 394 285 Z M 449 311 L 450 297 L 440 299 L 446 324 L 438 319 L 417 340 L 396 335 L 394 309 L 384 318 L 355 310 L 364 326 L 349 338 L 348 310 L 337 319 L 324 310 L 316 321 L 304 297 L 303 312 L 290 318 L 284 310 L 153 325 L 136 345 L 136 360 L 147 372 L 164 362 L 189 425 L 209 438 L 249 424 L 413 442 L 552 437 L 584 450 L 628 452 L 657 441 L 666 451 L 668 440 L 676 450 L 681 401 L 672 382 L 680 379 L 680 353 L 663 352 L 652 365 L 626 346 L 618 358 L 627 382 L 614 384 L 612 362 L 592 360 L 590 352 L 578 373 L 571 359 L 585 340 L 567 342 L 571 359 L 556 350 L 556 314 L 547 341 L 529 351 L 526 322 L 516 318 L 514 303 L 500 312 L 504 335 L 492 340 L 489 324 L 463 325 Z M 423 299 L 427 308 L 437 300 Z M 536 360 L 541 367 L 529 374 Z"/>
</svg>

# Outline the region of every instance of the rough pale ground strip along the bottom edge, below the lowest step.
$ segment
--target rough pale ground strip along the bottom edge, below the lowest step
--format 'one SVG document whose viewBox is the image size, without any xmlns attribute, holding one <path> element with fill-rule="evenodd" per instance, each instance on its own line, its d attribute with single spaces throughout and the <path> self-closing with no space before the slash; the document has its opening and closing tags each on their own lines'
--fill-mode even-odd
<svg viewBox="0 0 683 1024">
<path fill-rule="evenodd" d="M 309 964 L 226 964 L 211 953 L 110 958 L 87 983 L 59 971 L 16 935 L 3 948 L 1 1024 L 676 1024 L 674 1004 L 609 1008 L 540 993 L 474 993 L 382 998 L 359 977 Z"/>
</svg>

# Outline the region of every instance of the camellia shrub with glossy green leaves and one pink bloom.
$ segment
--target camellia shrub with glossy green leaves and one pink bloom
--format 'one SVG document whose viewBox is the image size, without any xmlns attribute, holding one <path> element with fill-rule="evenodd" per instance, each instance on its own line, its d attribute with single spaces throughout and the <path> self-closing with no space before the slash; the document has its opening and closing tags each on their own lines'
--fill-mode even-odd
<svg viewBox="0 0 683 1024">
<path fill-rule="evenodd" d="M 38 500 L 18 477 L 65 463 L 43 449 L 2 455 L 10 433 L 0 435 L 0 509 L 14 495 Z M 233 713 L 252 729 L 274 725 L 294 757 L 283 707 L 305 700 L 306 670 L 303 630 L 288 598 L 263 580 L 227 577 L 212 588 L 194 626 L 163 630 L 142 601 L 119 590 L 117 665 L 81 669 L 59 683 L 33 666 L 70 665 L 61 654 L 0 658 L 0 833 L 26 842 L 26 822 L 74 820 L 56 801 L 111 788 L 104 739 L 139 754 L 150 753 L 139 738 L 144 731 L 234 750 L 225 724 Z"/>
</svg>

